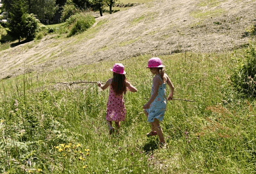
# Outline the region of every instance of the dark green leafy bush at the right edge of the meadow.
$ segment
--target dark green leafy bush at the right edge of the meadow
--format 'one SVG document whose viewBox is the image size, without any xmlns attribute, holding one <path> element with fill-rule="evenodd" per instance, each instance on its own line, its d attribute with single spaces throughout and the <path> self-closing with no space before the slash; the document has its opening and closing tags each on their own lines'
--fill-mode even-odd
<svg viewBox="0 0 256 174">
<path fill-rule="evenodd" d="M 238 59 L 237 68 L 231 76 L 234 87 L 247 95 L 256 95 L 256 46 L 250 43 L 244 59 Z"/>
</svg>

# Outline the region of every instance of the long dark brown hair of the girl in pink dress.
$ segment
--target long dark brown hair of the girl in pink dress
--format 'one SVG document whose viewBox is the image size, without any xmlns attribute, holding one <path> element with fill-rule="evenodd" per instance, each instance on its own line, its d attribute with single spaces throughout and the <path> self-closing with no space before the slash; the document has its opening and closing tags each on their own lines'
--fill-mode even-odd
<svg viewBox="0 0 256 174">
<path fill-rule="evenodd" d="M 116 95 L 122 95 L 122 93 L 126 93 L 127 89 L 125 86 L 126 77 L 124 74 L 117 74 L 113 72 L 113 79 L 111 86 Z"/>
</svg>

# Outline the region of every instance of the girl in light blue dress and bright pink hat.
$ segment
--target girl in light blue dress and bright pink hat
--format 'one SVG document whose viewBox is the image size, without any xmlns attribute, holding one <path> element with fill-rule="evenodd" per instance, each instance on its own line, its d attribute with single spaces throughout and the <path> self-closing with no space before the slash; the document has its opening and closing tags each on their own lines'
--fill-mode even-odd
<svg viewBox="0 0 256 174">
<path fill-rule="evenodd" d="M 166 100 L 173 99 L 174 86 L 167 74 L 164 73 L 164 65 L 161 59 L 151 58 L 148 60 L 150 72 L 155 75 L 153 78 L 151 97 L 147 104 L 143 106 L 147 121 L 151 124 L 151 131 L 147 136 L 158 136 L 161 146 L 165 146 L 163 131 L 159 122 L 163 121 L 166 110 Z M 166 99 L 166 84 L 170 87 L 170 94 Z"/>
</svg>

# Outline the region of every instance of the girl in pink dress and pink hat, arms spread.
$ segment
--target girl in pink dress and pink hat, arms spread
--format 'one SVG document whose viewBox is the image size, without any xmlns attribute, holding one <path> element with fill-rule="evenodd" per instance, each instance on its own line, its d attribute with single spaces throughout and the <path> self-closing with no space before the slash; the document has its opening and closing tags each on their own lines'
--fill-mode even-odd
<svg viewBox="0 0 256 174">
<path fill-rule="evenodd" d="M 124 65 L 122 63 L 115 63 L 113 69 L 113 78 L 108 79 L 104 85 L 100 82 L 98 86 L 105 90 L 109 86 L 109 97 L 107 105 L 106 120 L 109 126 L 109 133 L 115 132 L 112 127 L 112 121 L 115 122 L 116 127 L 120 128 L 120 122 L 125 120 L 126 109 L 124 105 L 124 94 L 127 90 L 136 92 L 137 89 L 129 83 L 126 78 L 124 71 Z"/>
</svg>

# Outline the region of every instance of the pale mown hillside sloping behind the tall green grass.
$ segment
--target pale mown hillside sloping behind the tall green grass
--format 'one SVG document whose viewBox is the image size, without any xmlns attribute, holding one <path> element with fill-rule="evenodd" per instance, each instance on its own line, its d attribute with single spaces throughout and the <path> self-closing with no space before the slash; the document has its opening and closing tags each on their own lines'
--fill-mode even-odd
<svg viewBox="0 0 256 174">
<path fill-rule="evenodd" d="M 141 54 L 215 52 L 243 47 L 256 1 L 156 0 L 97 18 L 71 38 L 46 36 L 0 52 L 0 79 Z"/>
</svg>

